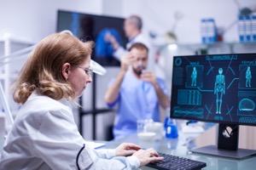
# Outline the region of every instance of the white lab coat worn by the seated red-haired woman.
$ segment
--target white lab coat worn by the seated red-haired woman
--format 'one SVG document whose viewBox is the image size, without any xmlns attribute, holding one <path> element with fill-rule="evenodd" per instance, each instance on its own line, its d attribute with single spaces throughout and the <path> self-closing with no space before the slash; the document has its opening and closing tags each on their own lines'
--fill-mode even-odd
<svg viewBox="0 0 256 170">
<path fill-rule="evenodd" d="M 0 160 L 1 170 L 139 167 L 135 156 L 115 156 L 114 150 L 94 150 L 84 145 L 69 102 L 35 93 L 20 108 Z"/>
</svg>

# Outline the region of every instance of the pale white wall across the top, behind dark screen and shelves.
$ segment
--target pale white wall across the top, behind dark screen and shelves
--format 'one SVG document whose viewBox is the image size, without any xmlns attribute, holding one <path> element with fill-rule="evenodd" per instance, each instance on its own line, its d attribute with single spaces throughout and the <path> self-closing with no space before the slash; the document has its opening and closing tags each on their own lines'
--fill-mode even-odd
<svg viewBox="0 0 256 170">
<path fill-rule="evenodd" d="M 254 7 L 255 0 L 237 0 L 241 7 Z M 212 17 L 218 26 L 228 27 L 236 20 L 238 8 L 235 0 L 23 0 L 0 3 L 0 36 L 9 31 L 14 37 L 38 42 L 55 32 L 56 9 L 74 10 L 90 14 L 110 14 L 126 17 L 139 14 L 143 17 L 144 31 L 164 34 L 172 29 L 174 14 L 183 18 L 177 22 L 178 42 L 201 42 L 201 18 Z M 238 41 L 237 26 L 228 31 L 226 42 Z"/>
</svg>

